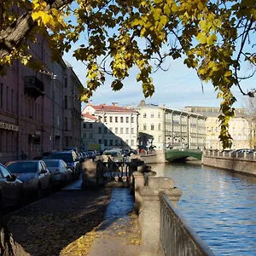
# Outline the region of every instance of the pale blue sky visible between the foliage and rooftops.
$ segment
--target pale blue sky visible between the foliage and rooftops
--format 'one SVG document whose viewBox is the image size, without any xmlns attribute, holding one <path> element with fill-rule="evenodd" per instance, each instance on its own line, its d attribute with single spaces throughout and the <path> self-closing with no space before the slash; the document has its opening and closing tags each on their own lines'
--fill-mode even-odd
<svg viewBox="0 0 256 256">
<path fill-rule="evenodd" d="M 81 36 L 72 49 L 77 49 L 80 44 L 84 44 L 84 37 Z M 64 55 L 63 59 L 73 66 L 73 71 L 77 74 L 82 84 L 86 84 L 86 67 L 83 63 L 76 61 L 72 56 L 73 50 Z M 129 77 L 124 81 L 124 87 L 119 91 L 113 91 L 111 88 L 111 77 L 107 76 L 106 82 L 94 92 L 90 101 L 95 104 L 106 103 L 111 105 L 112 102 L 118 102 L 119 106 L 138 105 L 145 100 L 146 103 L 165 104 L 166 107 L 183 109 L 186 106 L 205 106 L 219 107 L 221 102 L 217 99 L 217 91 L 211 83 L 203 84 L 198 79 L 195 70 L 189 69 L 183 64 L 182 59 L 173 61 L 169 58 L 166 61 L 167 71 L 161 71 L 153 74 L 153 83 L 155 86 L 154 95 L 147 99 L 143 96 L 143 89 L 140 83 L 137 83 L 137 70 L 131 69 Z M 243 70 L 247 70 L 245 65 L 241 65 Z M 242 89 L 247 92 L 256 85 L 256 77 L 241 82 Z M 242 96 L 239 89 L 234 86 L 232 90 L 236 96 L 237 102 L 235 108 L 245 106 L 247 96 Z M 85 104 L 82 103 L 82 108 Z"/>
</svg>

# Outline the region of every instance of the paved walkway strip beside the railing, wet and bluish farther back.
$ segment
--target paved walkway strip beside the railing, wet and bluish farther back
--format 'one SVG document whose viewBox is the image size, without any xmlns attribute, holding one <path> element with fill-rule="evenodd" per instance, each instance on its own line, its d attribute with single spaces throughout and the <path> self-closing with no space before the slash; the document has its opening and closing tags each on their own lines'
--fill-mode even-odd
<svg viewBox="0 0 256 256">
<path fill-rule="evenodd" d="M 115 188 L 105 213 L 105 221 L 96 231 L 89 256 L 139 255 L 140 229 L 137 215 L 131 213 L 134 199 L 130 189 Z"/>
</svg>

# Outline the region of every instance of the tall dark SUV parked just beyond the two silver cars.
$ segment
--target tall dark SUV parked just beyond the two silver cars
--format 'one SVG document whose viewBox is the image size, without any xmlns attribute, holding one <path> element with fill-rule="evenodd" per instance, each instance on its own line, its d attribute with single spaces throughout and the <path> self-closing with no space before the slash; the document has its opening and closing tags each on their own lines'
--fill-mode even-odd
<svg viewBox="0 0 256 256">
<path fill-rule="evenodd" d="M 67 166 L 73 171 L 73 178 L 79 178 L 81 166 L 79 163 L 79 157 L 73 150 L 52 152 L 49 155 L 49 159 L 61 159 L 65 161 Z"/>
</svg>

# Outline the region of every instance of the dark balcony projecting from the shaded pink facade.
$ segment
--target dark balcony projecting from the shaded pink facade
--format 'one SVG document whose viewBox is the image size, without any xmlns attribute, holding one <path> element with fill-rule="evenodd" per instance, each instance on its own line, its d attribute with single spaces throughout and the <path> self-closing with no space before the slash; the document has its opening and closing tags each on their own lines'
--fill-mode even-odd
<svg viewBox="0 0 256 256">
<path fill-rule="evenodd" d="M 35 76 L 27 76 L 24 79 L 25 93 L 29 96 L 33 96 L 35 99 L 38 96 L 44 96 L 44 84 Z"/>
</svg>

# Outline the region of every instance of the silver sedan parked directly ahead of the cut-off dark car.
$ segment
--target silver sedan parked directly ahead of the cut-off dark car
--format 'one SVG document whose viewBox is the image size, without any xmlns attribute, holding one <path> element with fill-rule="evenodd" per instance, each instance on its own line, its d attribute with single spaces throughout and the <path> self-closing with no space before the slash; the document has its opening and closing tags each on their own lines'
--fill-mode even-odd
<svg viewBox="0 0 256 256">
<path fill-rule="evenodd" d="M 51 189 L 50 173 L 43 160 L 17 160 L 6 164 L 9 171 L 23 182 L 24 192 L 35 193 L 38 199 Z"/>
</svg>

